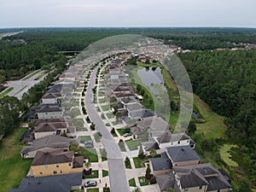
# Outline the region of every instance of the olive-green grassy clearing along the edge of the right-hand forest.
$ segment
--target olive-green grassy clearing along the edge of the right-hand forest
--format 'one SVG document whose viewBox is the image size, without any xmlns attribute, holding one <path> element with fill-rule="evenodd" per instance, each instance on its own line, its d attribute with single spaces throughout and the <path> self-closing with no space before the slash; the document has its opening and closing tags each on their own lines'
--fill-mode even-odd
<svg viewBox="0 0 256 192">
<path fill-rule="evenodd" d="M 206 119 L 205 123 L 197 124 L 198 131 L 202 131 L 207 139 L 224 137 L 224 117 L 214 113 L 199 96 L 194 95 L 195 106 Z"/>
</svg>

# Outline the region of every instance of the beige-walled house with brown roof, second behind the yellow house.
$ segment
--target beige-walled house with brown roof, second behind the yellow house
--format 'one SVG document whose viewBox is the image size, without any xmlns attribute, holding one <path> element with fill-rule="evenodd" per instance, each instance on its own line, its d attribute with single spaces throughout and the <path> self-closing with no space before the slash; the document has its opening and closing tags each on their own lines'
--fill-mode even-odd
<svg viewBox="0 0 256 192">
<path fill-rule="evenodd" d="M 50 135 L 61 135 L 64 132 L 67 133 L 66 122 L 40 123 L 39 125 L 34 125 L 34 130 L 32 131 L 34 139 Z"/>
</svg>

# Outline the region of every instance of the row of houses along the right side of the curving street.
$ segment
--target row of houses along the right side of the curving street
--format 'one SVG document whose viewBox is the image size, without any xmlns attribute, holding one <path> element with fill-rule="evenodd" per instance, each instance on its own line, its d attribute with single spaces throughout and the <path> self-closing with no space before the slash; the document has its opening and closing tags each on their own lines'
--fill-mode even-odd
<svg viewBox="0 0 256 192">
<path fill-rule="evenodd" d="M 132 135 L 148 138 L 142 143 L 144 154 L 150 154 L 151 150 L 160 154 L 159 158 L 149 160 L 159 190 L 229 192 L 230 178 L 211 164 L 201 164 L 201 157 L 195 152 L 196 143 L 189 135 L 172 133 L 165 119 L 143 107 L 140 103 L 143 98 L 128 83 L 122 65 L 123 62 L 110 64 L 105 76 L 108 93 L 111 100 L 115 98 L 113 108 L 123 114 L 122 120 L 131 127 Z"/>
</svg>

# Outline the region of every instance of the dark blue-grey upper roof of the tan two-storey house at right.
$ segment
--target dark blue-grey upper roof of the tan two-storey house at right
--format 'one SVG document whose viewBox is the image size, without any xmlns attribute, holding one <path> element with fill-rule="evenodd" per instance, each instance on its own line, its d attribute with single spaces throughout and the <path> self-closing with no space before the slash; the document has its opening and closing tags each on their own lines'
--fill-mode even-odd
<svg viewBox="0 0 256 192">
<path fill-rule="evenodd" d="M 200 156 L 190 146 L 166 148 L 166 153 L 171 157 L 173 163 L 201 160 Z"/>
</svg>

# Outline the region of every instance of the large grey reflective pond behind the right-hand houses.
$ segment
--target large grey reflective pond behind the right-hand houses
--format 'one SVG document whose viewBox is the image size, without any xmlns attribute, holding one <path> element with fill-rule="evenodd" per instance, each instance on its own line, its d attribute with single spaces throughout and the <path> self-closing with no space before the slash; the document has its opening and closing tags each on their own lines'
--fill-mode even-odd
<svg viewBox="0 0 256 192">
<path fill-rule="evenodd" d="M 137 70 L 137 74 L 143 84 L 147 85 L 155 95 L 160 94 L 159 88 L 160 90 L 166 90 L 160 67 L 144 67 L 143 69 Z"/>
</svg>

